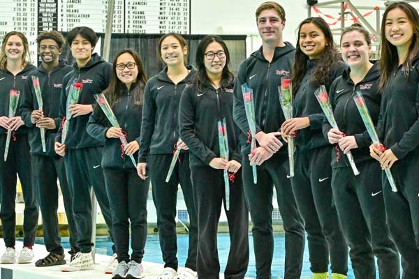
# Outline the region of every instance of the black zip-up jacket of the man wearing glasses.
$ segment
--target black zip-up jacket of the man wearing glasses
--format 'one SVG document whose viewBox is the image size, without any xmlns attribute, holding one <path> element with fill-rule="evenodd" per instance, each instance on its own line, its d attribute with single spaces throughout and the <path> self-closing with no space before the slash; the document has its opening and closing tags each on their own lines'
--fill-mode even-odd
<svg viewBox="0 0 419 279">
<path fill-rule="evenodd" d="M 61 96 L 62 82 L 64 76 L 73 68 L 68 66 L 66 61 L 59 61 L 59 65 L 52 69 L 49 73 L 39 66 L 33 70 L 24 84 L 22 103 L 20 104 L 20 115 L 26 126 L 29 127 L 29 145 L 31 146 L 31 155 L 47 155 L 57 156 L 54 151 L 55 136 L 59 126 L 61 125 L 61 118 L 59 118 L 59 102 Z M 56 128 L 54 130 L 45 129 L 45 146 L 47 152 L 42 151 L 41 144 L 41 130 L 31 122 L 32 111 L 38 110 L 38 100 L 36 99 L 34 82 L 32 76 L 38 77 L 41 86 L 42 100 L 43 100 L 43 114 L 45 117 L 54 119 Z"/>
</svg>

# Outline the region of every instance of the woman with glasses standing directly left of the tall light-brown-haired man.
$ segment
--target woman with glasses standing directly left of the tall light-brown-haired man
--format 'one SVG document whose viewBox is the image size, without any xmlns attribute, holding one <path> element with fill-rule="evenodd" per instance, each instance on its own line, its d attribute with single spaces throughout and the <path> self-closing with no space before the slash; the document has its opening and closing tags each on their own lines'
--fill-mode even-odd
<svg viewBox="0 0 419 279">
<path fill-rule="evenodd" d="M 230 229 L 225 278 L 244 278 L 249 263 L 249 213 L 242 185 L 240 130 L 233 121 L 234 77 L 228 70 L 229 61 L 221 38 L 203 38 L 196 52 L 198 74 L 182 93 L 179 106 L 180 135 L 191 151 L 191 179 L 198 209 L 198 278 L 219 278 L 216 232 L 222 202 Z M 226 144 L 228 157 L 221 154 L 224 144 L 220 142 Z M 226 174 L 230 197 L 225 192 Z"/>
</svg>

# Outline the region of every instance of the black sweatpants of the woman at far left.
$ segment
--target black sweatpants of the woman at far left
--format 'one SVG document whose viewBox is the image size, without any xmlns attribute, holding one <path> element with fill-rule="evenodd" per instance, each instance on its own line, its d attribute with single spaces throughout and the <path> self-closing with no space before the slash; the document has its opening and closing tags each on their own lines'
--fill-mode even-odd
<svg viewBox="0 0 419 279">
<path fill-rule="evenodd" d="M 18 174 L 24 199 L 23 245 L 33 246 L 38 227 L 38 201 L 32 180 L 31 155 L 29 153 L 27 134 L 17 134 L 15 137 L 15 141 L 10 140 L 7 160 L 4 162 L 3 155 L 6 147 L 6 135 L 0 135 L 1 229 L 6 247 L 14 247 L 16 227 L 16 174 Z"/>
</svg>

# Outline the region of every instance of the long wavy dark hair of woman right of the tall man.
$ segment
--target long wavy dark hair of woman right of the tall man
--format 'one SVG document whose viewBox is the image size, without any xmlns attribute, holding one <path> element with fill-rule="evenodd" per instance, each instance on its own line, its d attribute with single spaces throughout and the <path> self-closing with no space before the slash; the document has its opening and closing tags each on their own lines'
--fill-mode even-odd
<svg viewBox="0 0 419 279">
<path fill-rule="evenodd" d="M 316 27 L 321 29 L 321 31 L 325 35 L 326 40 L 325 49 L 321 53 L 316 68 L 314 68 L 313 74 L 311 75 L 311 84 L 314 84 L 315 86 L 320 86 L 321 84 L 327 84 L 328 82 L 330 82 L 330 72 L 332 71 L 333 67 L 337 65 L 338 61 L 341 60 L 336 50 L 336 45 L 333 42 L 332 31 L 330 31 L 329 25 L 325 22 L 325 20 L 323 20 L 323 18 L 321 17 L 308 17 L 307 19 L 303 20 L 298 26 L 295 62 L 293 65 L 293 72 L 291 74 L 293 94 L 297 92 L 298 86 L 300 86 L 302 78 L 304 77 L 307 70 L 307 61 L 309 60 L 309 56 L 304 54 L 304 52 L 302 52 L 301 50 L 300 31 L 301 27 L 304 24 L 308 23 L 313 23 L 314 25 L 316 25 Z"/>
</svg>

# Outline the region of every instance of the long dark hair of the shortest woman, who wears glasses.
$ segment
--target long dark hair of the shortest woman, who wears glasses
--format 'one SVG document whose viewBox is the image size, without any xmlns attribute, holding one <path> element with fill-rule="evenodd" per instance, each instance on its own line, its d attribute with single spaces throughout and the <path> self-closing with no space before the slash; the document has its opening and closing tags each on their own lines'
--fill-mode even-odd
<svg viewBox="0 0 419 279">
<path fill-rule="evenodd" d="M 140 56 L 138 55 L 135 50 L 131 49 L 124 49 L 117 53 L 115 59 L 112 63 L 112 80 L 110 80 L 110 84 L 107 89 L 105 89 L 104 93 L 108 102 L 110 103 L 111 107 L 117 103 L 119 97 L 121 96 L 121 91 L 123 88 L 123 83 L 117 77 L 117 60 L 118 57 L 124 53 L 131 54 L 134 58 L 134 62 L 137 64 L 138 67 L 138 76 L 137 76 L 137 83 L 133 84 L 135 86 L 133 93 L 134 93 L 134 100 L 142 105 L 144 101 L 144 87 L 145 83 L 147 82 L 147 77 L 145 76 L 145 70 L 142 66 L 142 62 Z"/>
</svg>

